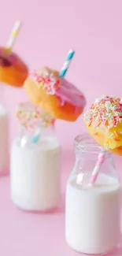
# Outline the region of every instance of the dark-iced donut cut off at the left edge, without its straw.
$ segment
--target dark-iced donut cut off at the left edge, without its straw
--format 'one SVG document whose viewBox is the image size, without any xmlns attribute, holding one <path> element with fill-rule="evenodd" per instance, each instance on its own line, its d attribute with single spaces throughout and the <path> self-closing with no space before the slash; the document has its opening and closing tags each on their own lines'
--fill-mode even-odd
<svg viewBox="0 0 122 256">
<path fill-rule="evenodd" d="M 0 82 L 14 87 L 22 87 L 28 76 L 28 67 L 24 62 L 10 52 L 6 54 L 6 48 L 0 47 Z"/>
</svg>

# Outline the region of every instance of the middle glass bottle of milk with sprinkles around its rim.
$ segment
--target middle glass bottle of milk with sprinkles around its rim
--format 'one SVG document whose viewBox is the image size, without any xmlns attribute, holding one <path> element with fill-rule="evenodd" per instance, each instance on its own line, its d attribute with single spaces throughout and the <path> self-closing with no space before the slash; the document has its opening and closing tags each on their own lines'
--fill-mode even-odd
<svg viewBox="0 0 122 256">
<path fill-rule="evenodd" d="M 24 114 L 25 111 L 19 119 Z M 45 127 L 41 116 L 37 125 L 40 113 L 36 109 L 31 115 L 33 119 L 26 120 L 26 125 L 24 118 L 21 121 L 19 135 L 11 147 L 11 199 L 23 210 L 48 211 L 56 208 L 60 201 L 61 147 L 54 122 L 48 120 Z M 30 118 L 28 111 L 26 117 Z"/>
</svg>

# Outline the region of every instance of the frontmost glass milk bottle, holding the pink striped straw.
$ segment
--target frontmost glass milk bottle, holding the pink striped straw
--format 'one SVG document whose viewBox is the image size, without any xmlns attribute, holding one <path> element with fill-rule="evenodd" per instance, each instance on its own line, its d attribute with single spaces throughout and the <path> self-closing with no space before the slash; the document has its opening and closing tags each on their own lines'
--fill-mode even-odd
<svg viewBox="0 0 122 256">
<path fill-rule="evenodd" d="M 88 135 L 76 137 L 76 162 L 66 189 L 65 239 L 84 254 L 105 254 L 120 242 L 121 189 L 109 152 L 97 180 L 90 182 L 101 150 Z"/>
</svg>

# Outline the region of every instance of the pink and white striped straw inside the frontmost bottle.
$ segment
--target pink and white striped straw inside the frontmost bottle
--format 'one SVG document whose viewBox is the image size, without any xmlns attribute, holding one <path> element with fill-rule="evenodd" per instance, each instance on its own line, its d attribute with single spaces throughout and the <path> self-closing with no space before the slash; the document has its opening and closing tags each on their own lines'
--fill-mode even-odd
<svg viewBox="0 0 122 256">
<path fill-rule="evenodd" d="M 98 155 L 98 161 L 94 167 L 93 173 L 91 174 L 90 184 L 94 184 L 94 182 L 97 180 L 98 173 L 102 167 L 102 163 L 105 160 L 105 150 L 102 150 L 102 152 Z"/>
</svg>

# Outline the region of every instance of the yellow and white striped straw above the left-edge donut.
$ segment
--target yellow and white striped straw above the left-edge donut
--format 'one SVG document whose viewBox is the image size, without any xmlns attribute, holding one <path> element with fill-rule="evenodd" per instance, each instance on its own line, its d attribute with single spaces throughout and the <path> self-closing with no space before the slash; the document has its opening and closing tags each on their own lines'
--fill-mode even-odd
<svg viewBox="0 0 122 256">
<path fill-rule="evenodd" d="M 17 35 L 20 31 L 20 25 L 21 25 L 21 21 L 17 20 L 13 26 L 13 30 L 9 35 L 9 40 L 6 44 L 6 53 L 9 53 L 12 48 L 13 48 L 13 44 L 15 43 L 15 40 L 17 39 Z"/>
</svg>

